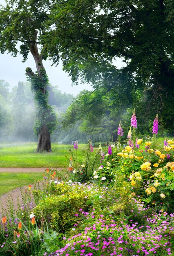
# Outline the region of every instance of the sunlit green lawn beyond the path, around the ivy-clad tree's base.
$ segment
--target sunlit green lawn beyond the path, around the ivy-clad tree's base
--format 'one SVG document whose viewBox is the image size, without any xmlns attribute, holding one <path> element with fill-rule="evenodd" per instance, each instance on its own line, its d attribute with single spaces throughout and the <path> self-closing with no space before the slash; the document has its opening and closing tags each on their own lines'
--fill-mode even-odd
<svg viewBox="0 0 174 256">
<path fill-rule="evenodd" d="M 36 153 L 37 143 L 23 143 L 18 146 L 0 146 L 0 167 L 68 167 L 69 162 L 65 157 L 70 157 L 69 149 L 74 149 L 72 145 L 58 145 L 52 143 L 52 153 Z M 87 144 L 78 146 L 79 164 L 83 161 L 82 151 L 87 148 Z"/>
</svg>

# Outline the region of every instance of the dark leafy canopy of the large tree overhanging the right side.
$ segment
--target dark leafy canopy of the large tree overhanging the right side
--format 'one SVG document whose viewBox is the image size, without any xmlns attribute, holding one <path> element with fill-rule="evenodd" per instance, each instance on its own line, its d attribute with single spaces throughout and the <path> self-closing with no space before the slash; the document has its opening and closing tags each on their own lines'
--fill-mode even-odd
<svg viewBox="0 0 174 256">
<path fill-rule="evenodd" d="M 173 13 L 171 0 L 60 0 L 42 40 L 54 63 L 62 58 L 74 83 L 81 76 L 108 91 L 119 87 L 120 72 L 129 74 L 144 90 L 144 111 L 153 109 L 173 128 Z M 126 63 L 120 72 L 117 57 Z"/>
</svg>

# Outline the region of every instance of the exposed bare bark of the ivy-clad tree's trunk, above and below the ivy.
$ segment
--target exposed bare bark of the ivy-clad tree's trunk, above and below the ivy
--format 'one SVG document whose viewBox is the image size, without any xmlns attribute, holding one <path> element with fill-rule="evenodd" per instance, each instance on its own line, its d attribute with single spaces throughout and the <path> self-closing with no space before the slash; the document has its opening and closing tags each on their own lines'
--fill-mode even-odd
<svg viewBox="0 0 174 256">
<path fill-rule="evenodd" d="M 39 54 L 39 52 L 38 52 L 37 43 L 33 43 L 33 41 L 36 42 L 36 40 L 37 40 L 37 34 L 38 34 L 38 31 L 35 30 L 35 34 L 33 35 L 33 38 L 29 38 L 29 40 L 31 41 L 31 43 L 29 43 L 29 50 L 34 58 L 38 74 L 33 73 L 31 68 L 29 68 L 29 67 L 27 67 L 27 69 L 26 69 L 26 74 L 30 78 L 32 78 L 33 76 L 39 76 L 39 78 L 44 86 L 43 86 L 43 88 L 39 88 L 38 90 L 40 90 L 43 94 L 45 94 L 47 84 L 45 84 L 45 81 L 43 79 L 43 73 L 42 73 L 43 70 L 45 71 L 45 67 L 42 64 L 42 55 Z M 39 107 L 40 106 L 38 106 L 38 108 Z M 46 124 L 42 124 L 42 128 L 39 130 L 39 133 L 38 133 L 38 145 L 37 145 L 36 152 L 45 151 L 45 150 L 47 152 L 52 152 L 49 129 Z"/>
</svg>

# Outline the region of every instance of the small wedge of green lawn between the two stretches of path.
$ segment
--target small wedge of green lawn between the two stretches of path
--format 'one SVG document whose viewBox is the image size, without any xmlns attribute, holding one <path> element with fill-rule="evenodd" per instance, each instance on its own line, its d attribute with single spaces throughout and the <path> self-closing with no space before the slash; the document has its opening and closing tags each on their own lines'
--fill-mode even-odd
<svg viewBox="0 0 174 256">
<path fill-rule="evenodd" d="M 43 173 L 0 173 L 0 196 L 43 179 Z"/>
</svg>

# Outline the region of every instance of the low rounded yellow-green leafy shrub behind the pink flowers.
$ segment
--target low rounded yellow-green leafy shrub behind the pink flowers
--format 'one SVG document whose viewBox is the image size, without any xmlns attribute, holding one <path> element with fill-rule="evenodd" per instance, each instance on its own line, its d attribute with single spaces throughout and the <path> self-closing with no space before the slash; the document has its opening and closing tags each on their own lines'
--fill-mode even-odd
<svg viewBox="0 0 174 256">
<path fill-rule="evenodd" d="M 76 223 L 74 214 L 78 213 L 81 207 L 87 208 L 87 199 L 85 198 L 87 191 L 83 191 L 83 188 L 78 185 L 71 188 L 71 182 L 67 184 L 58 182 L 55 184 L 55 189 L 58 189 L 58 193 L 48 195 L 47 198 L 41 200 L 35 207 L 34 213 L 36 216 L 51 221 L 51 225 L 56 231 L 63 232 Z"/>
</svg>

